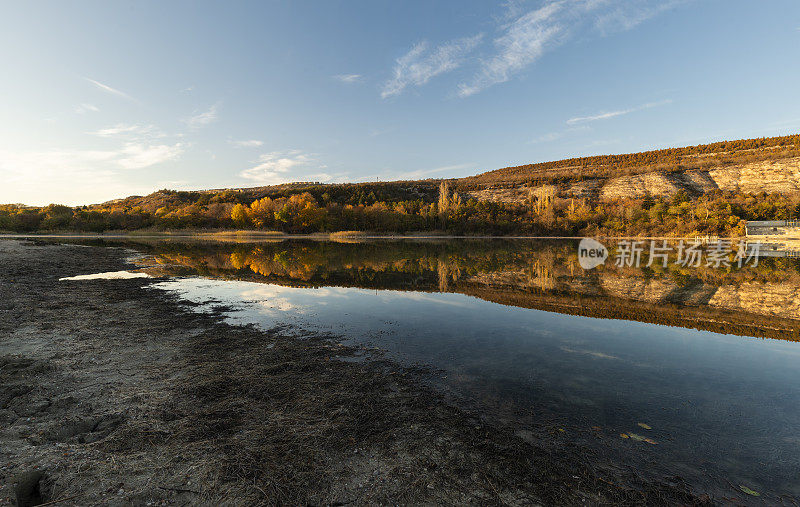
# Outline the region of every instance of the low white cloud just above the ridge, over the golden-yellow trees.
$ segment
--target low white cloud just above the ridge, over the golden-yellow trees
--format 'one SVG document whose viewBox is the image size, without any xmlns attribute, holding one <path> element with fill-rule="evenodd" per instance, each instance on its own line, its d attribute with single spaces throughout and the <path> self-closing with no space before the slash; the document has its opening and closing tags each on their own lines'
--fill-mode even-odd
<svg viewBox="0 0 800 507">
<path fill-rule="evenodd" d="M 273 151 L 261 155 L 256 166 L 245 169 L 239 175 L 265 185 L 303 180 L 328 181 L 331 179 L 330 174 L 324 172 L 309 174 L 307 172 L 324 168 L 325 166 L 318 164 L 311 155 L 300 150 Z"/>
</svg>

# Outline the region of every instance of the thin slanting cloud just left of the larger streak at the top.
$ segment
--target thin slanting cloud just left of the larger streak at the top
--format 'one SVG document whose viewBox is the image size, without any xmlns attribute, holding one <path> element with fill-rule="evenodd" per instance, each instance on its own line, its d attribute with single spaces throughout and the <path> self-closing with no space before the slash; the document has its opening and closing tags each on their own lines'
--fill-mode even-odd
<svg viewBox="0 0 800 507">
<path fill-rule="evenodd" d="M 409 86 L 422 86 L 439 74 L 458 68 L 483 38 L 482 34 L 449 41 L 433 49 L 420 42 L 395 61 L 394 76 L 386 82 L 381 97 L 399 95 Z"/>
</svg>

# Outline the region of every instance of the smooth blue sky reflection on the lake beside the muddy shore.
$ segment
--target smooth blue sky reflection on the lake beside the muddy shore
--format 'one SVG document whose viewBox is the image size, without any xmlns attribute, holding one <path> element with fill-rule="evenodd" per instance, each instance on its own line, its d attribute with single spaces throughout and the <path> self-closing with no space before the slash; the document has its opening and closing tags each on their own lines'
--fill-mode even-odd
<svg viewBox="0 0 800 507">
<path fill-rule="evenodd" d="M 205 307 L 231 305 L 233 323 L 333 333 L 442 368 L 451 388 L 504 407 L 504 418 L 520 424 L 600 426 L 619 438 L 647 433 L 636 425 L 644 421 L 659 442 L 647 459 L 687 475 L 706 468 L 734 484 L 800 494 L 797 343 L 562 315 L 461 294 L 199 278 L 155 286 Z M 526 419 L 526 410 L 535 414 Z"/>
</svg>

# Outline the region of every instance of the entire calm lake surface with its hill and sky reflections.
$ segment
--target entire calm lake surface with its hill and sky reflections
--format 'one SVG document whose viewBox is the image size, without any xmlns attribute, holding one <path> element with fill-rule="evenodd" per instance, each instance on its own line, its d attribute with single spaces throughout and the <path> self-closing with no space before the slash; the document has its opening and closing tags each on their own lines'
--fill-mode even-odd
<svg viewBox="0 0 800 507">
<path fill-rule="evenodd" d="M 800 261 L 779 250 L 585 270 L 576 240 L 70 241 L 131 249 L 196 311 L 428 369 L 538 445 L 700 492 L 800 497 Z"/>
</svg>

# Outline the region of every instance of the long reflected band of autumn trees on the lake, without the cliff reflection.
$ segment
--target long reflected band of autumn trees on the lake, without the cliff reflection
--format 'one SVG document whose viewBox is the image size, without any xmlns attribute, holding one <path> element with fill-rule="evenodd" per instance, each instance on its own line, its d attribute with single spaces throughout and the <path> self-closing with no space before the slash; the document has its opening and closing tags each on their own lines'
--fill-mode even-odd
<svg viewBox="0 0 800 507">
<path fill-rule="evenodd" d="M 352 282 L 369 277 L 424 278 L 435 281 L 440 290 L 452 289 L 460 280 L 481 275 L 513 273 L 528 287 L 553 290 L 570 279 L 622 276 L 649 281 L 655 278 L 696 283 L 739 284 L 753 280 L 781 281 L 800 286 L 800 261 L 763 259 L 757 269 L 725 271 L 713 268 L 668 269 L 617 268 L 613 262 L 590 272 L 577 262 L 575 242 L 559 241 L 377 241 L 333 243 L 324 241 L 282 241 L 259 244 L 157 243 L 154 253 L 164 264 L 196 269 L 205 274 L 249 271 L 265 278 L 288 278 L 301 282 L 324 281 L 331 277 Z M 385 275 L 385 276 L 384 276 Z M 487 279 L 490 280 L 490 279 Z M 508 277 L 508 280 L 512 278 Z"/>
</svg>

